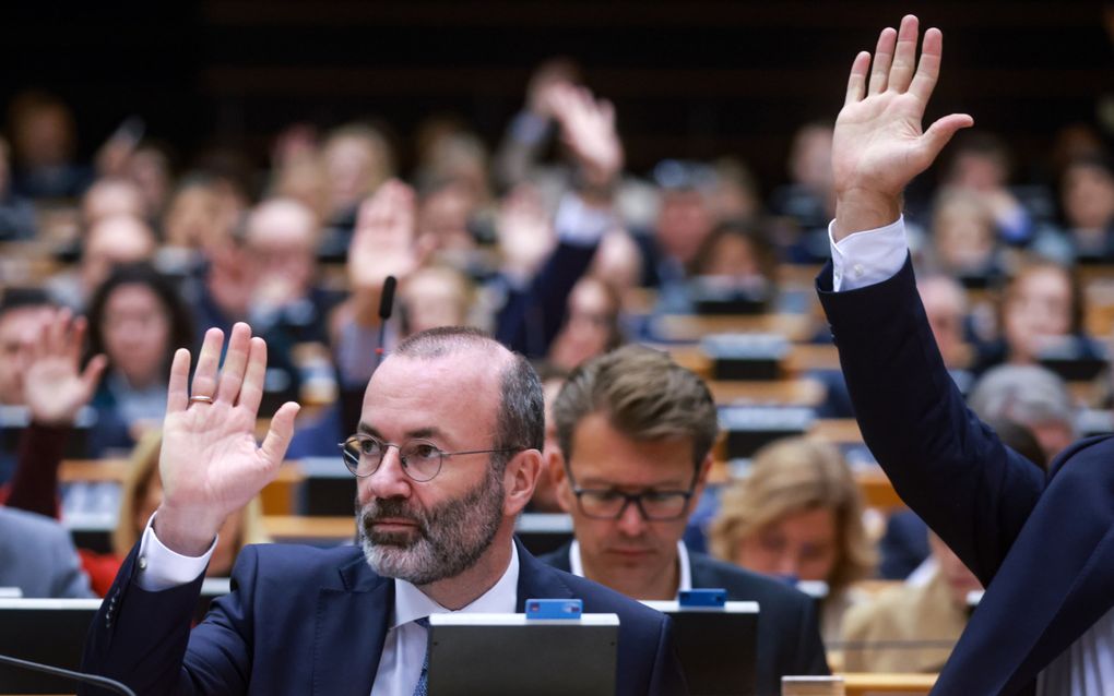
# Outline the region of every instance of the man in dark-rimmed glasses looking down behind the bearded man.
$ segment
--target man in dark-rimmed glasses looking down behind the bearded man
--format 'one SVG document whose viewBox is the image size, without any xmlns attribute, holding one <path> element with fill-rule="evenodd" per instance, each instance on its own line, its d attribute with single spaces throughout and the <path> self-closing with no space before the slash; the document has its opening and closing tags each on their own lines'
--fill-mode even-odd
<svg viewBox="0 0 1114 696">
<path fill-rule="evenodd" d="M 541 560 L 635 599 L 703 587 L 759 602 L 760 694 L 781 693 L 782 675 L 828 674 L 808 597 L 681 540 L 719 434 L 698 376 L 665 353 L 625 346 L 569 375 L 554 420 L 560 452 L 547 463 L 576 538 Z"/>
</svg>

